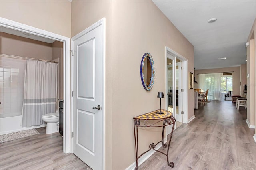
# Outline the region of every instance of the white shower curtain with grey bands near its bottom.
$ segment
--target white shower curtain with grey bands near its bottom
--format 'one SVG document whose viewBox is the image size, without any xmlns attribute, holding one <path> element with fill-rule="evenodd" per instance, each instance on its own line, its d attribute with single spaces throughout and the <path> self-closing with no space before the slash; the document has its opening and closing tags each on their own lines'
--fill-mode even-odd
<svg viewBox="0 0 256 170">
<path fill-rule="evenodd" d="M 27 60 L 24 77 L 22 127 L 42 125 L 42 115 L 55 112 L 57 63 Z"/>
</svg>

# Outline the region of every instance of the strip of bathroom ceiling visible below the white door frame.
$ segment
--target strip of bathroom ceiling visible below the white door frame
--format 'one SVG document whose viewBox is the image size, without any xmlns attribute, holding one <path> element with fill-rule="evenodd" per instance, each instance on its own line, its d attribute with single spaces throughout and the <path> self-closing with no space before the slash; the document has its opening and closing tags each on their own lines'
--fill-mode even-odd
<svg viewBox="0 0 256 170">
<path fill-rule="evenodd" d="M 8 33 L 8 34 L 13 34 L 13 35 L 16 35 L 16 36 L 20 36 L 20 37 L 25 37 L 25 38 L 29 38 L 29 39 L 33 39 L 33 40 L 38 40 L 38 41 L 41 41 L 41 42 L 46 42 L 46 43 L 55 42 L 55 40 L 52 40 L 52 39 L 49 39 L 49 38 L 36 36 L 34 34 L 28 34 L 28 33 L 25 33 L 25 32 L 21 32 L 21 31 L 14 30 L 14 29 L 7 28 L 7 27 L 3 27 L 3 26 L 0 26 L 0 31 Z"/>
</svg>

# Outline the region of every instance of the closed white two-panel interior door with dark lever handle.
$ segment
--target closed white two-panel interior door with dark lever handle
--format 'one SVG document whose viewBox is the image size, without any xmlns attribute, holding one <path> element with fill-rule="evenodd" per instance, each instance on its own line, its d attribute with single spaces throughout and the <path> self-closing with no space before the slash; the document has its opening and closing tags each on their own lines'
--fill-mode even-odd
<svg viewBox="0 0 256 170">
<path fill-rule="evenodd" d="M 72 42 L 73 153 L 92 169 L 103 169 L 102 24 L 74 36 Z"/>
</svg>

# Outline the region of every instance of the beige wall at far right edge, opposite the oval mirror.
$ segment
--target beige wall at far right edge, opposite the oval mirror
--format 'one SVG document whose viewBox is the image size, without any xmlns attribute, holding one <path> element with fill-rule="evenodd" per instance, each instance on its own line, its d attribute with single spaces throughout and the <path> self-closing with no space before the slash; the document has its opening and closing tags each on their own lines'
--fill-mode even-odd
<svg viewBox="0 0 256 170">
<path fill-rule="evenodd" d="M 247 78 L 247 119 L 250 125 L 255 125 L 256 115 L 255 115 L 255 96 L 256 96 L 256 18 L 252 25 L 252 29 L 248 36 L 247 42 L 249 42 L 249 47 L 247 47 L 247 73 L 250 77 Z M 251 61 L 248 61 L 251 59 Z M 254 60 L 254 61 L 252 61 Z M 254 73 L 252 73 L 254 71 Z M 253 76 L 252 76 L 253 75 Z M 252 108 L 253 107 L 253 108 Z M 250 120 L 249 120 L 250 119 Z M 256 129 L 255 135 L 256 139 Z"/>
</svg>

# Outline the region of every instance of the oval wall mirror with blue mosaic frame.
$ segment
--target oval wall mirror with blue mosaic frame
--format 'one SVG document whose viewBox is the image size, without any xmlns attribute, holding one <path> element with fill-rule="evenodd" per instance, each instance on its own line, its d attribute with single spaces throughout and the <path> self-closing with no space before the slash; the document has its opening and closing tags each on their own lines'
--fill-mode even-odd
<svg viewBox="0 0 256 170">
<path fill-rule="evenodd" d="M 150 53 L 145 53 L 140 63 L 140 78 L 144 89 L 150 91 L 154 85 L 155 67 Z"/>
</svg>

